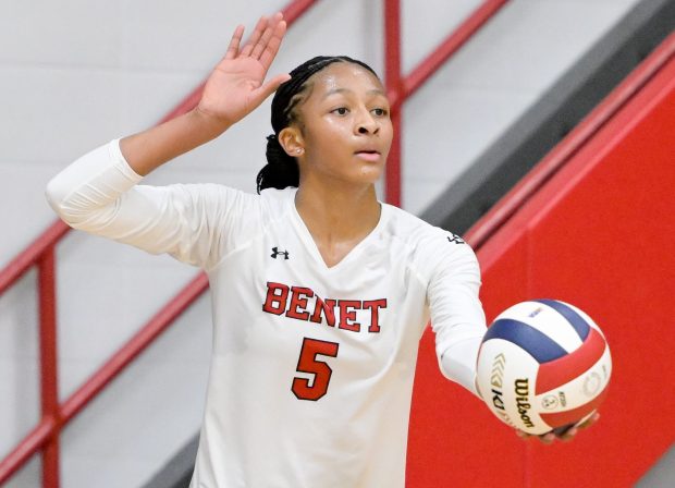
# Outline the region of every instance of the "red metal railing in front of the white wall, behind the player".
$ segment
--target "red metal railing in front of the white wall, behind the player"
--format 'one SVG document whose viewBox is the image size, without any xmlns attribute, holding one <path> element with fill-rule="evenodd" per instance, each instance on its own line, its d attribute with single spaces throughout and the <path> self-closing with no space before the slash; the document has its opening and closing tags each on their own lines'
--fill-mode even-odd
<svg viewBox="0 0 675 488">
<path fill-rule="evenodd" d="M 472 34 L 490 20 L 508 0 L 484 1 L 457 29 L 410 74 L 401 73 L 401 7 L 400 0 L 384 1 L 385 25 L 385 85 L 392 101 L 395 136 L 388 160 L 385 175 L 386 199 L 401 205 L 401 106 L 464 45 Z M 289 25 L 293 24 L 317 0 L 295 0 L 283 10 Z M 160 123 L 192 110 L 204 84 L 191 93 Z M 42 486 L 59 487 L 59 436 L 61 430 L 108 383 L 134 361 L 155 339 L 204 293 L 207 278 L 199 273 L 176 294 L 167 306 L 152 317 L 137 334 L 124 344 L 97 373 L 77 389 L 63 404 L 58 396 L 57 314 L 54 248 L 70 231 L 62 221 L 56 221 L 24 252 L 0 272 L 0 295 L 16 283 L 34 266 L 38 268 L 40 321 L 40 388 L 41 419 L 38 425 L 0 462 L 0 484 L 12 477 L 38 450 L 42 450 Z"/>
</svg>

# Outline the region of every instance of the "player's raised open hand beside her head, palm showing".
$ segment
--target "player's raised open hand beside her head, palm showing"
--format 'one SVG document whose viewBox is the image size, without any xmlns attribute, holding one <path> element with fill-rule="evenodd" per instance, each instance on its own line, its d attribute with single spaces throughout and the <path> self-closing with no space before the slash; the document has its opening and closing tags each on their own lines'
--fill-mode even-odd
<svg viewBox="0 0 675 488">
<path fill-rule="evenodd" d="M 286 23 L 281 13 L 269 19 L 262 16 L 246 45 L 240 48 L 244 26 L 237 26 L 225 57 L 206 82 L 197 110 L 213 123 L 228 127 L 262 103 L 290 80 L 290 75 L 279 74 L 265 82 L 285 33 Z"/>
</svg>

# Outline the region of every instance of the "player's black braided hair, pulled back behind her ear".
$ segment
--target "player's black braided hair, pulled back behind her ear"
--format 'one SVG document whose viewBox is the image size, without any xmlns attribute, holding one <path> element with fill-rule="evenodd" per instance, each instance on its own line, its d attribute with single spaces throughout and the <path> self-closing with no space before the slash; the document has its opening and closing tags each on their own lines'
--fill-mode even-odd
<svg viewBox="0 0 675 488">
<path fill-rule="evenodd" d="M 291 80 L 283 83 L 272 98 L 272 129 L 274 134 L 267 137 L 265 156 L 267 164 L 256 179 L 258 193 L 265 188 L 283 190 L 298 186 L 299 169 L 293 156 L 289 156 L 279 143 L 279 133 L 294 122 L 298 122 L 296 108 L 304 101 L 309 87 L 307 81 L 326 66 L 335 62 L 348 62 L 365 68 L 376 77 L 377 73 L 368 64 L 346 56 L 318 56 L 306 61 L 291 72 Z"/>
</svg>

